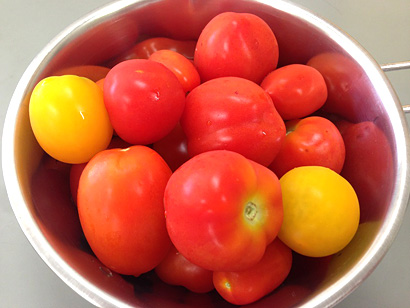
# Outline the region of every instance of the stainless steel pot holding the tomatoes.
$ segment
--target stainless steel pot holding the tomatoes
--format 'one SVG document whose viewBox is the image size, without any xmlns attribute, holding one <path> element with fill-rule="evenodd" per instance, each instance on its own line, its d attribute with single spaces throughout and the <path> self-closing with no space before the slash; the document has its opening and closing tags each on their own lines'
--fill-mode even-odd
<svg viewBox="0 0 410 308">
<path fill-rule="evenodd" d="M 281 0 L 119 1 L 76 21 L 45 46 L 23 74 L 3 130 L 4 178 L 22 230 L 50 268 L 93 304 L 183 307 L 199 301 L 207 307 L 229 306 L 215 294 L 193 296 L 149 274 L 140 278 L 117 275 L 90 253 L 70 200 L 58 192 L 59 179 L 52 172 L 36 177 L 45 168 L 44 152 L 29 125 L 30 92 L 45 76 L 67 67 L 103 64 L 141 37 L 195 39 L 206 22 L 223 11 L 251 12 L 268 22 L 278 38 L 281 65 L 325 58 L 329 82 L 335 86 L 333 99 L 344 106 L 339 109 L 341 115 L 354 123 L 375 123 L 388 140 L 390 164 L 373 165 L 361 173 L 364 180 L 375 171 L 389 175 L 388 181 L 376 180 L 369 191 L 377 196 L 373 199 L 377 215 L 372 204 L 363 205 L 363 213 L 368 214 L 344 251 L 330 259 L 297 258 L 286 283 L 253 306 L 278 306 L 279 300 L 281 307 L 335 305 L 371 274 L 398 232 L 409 200 L 407 123 L 383 70 L 357 42 L 314 14 Z M 369 161 L 376 157 L 365 148 L 359 150 Z"/>
</svg>

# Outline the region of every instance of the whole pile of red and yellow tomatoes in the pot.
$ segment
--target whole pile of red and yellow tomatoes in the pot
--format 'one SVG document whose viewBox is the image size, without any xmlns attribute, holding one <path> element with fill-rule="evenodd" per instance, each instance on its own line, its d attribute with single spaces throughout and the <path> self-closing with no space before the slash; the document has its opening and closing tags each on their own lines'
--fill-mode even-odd
<svg viewBox="0 0 410 308">
<path fill-rule="evenodd" d="M 109 269 L 216 291 L 237 305 L 276 289 L 292 253 L 343 249 L 359 224 L 326 81 L 278 67 L 259 17 L 226 12 L 197 41 L 151 38 L 110 68 L 40 81 L 30 122 L 72 164 L 84 235 Z"/>
</svg>

